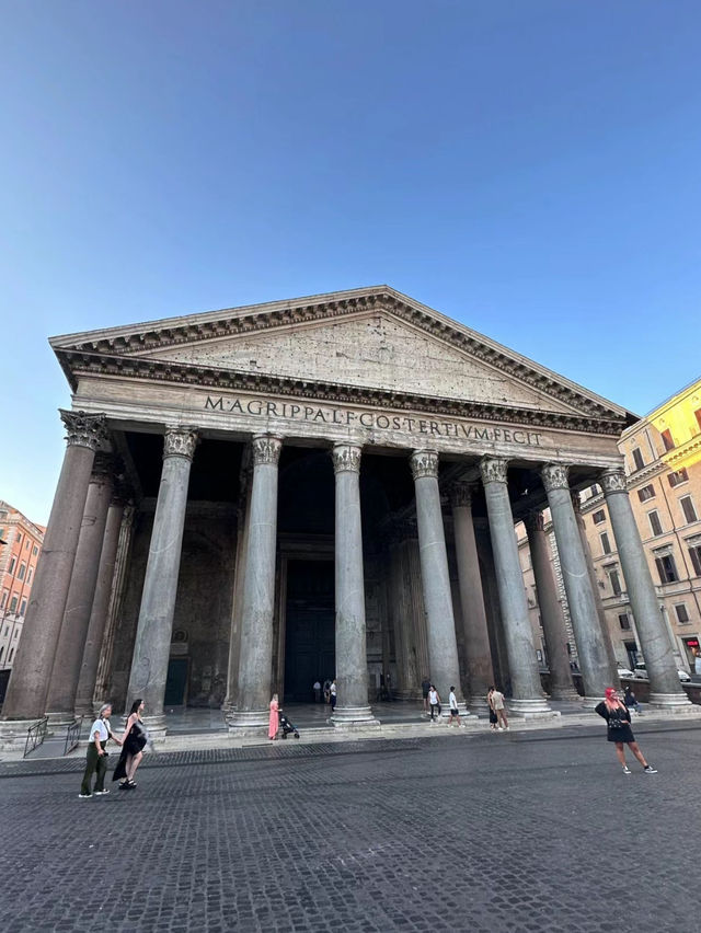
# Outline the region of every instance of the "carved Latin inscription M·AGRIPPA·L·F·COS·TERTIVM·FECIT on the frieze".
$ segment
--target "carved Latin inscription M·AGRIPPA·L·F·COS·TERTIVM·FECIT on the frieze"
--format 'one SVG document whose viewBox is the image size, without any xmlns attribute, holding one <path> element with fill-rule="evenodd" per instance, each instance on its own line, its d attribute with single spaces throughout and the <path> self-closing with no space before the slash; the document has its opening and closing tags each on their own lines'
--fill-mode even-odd
<svg viewBox="0 0 701 933">
<path fill-rule="evenodd" d="M 541 434 L 520 428 L 497 428 L 490 425 L 479 426 L 462 422 L 416 418 L 407 415 L 384 415 L 348 408 L 320 407 L 318 405 L 298 405 L 295 402 L 267 402 L 262 399 L 237 399 L 223 395 L 207 395 L 205 410 L 256 417 L 285 418 L 312 424 L 340 425 L 350 427 L 360 425 L 376 430 L 401 430 L 409 434 L 423 434 L 428 437 L 452 437 L 466 440 L 503 441 L 505 444 L 526 444 L 540 447 Z"/>
</svg>

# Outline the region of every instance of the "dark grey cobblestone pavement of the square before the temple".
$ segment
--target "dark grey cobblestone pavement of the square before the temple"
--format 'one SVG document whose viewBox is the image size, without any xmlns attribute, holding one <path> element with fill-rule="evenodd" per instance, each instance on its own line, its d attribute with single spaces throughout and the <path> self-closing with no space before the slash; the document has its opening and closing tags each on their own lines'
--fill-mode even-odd
<svg viewBox="0 0 701 933">
<path fill-rule="evenodd" d="M 692 933 L 701 729 L 637 737 L 658 774 L 561 730 L 159 756 L 89 800 L 3 767 L 0 928 Z"/>
</svg>

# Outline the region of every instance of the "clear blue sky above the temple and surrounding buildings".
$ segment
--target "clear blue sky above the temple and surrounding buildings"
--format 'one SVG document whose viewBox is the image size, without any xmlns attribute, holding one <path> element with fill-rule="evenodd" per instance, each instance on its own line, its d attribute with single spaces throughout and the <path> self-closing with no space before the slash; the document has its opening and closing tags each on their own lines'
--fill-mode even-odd
<svg viewBox="0 0 701 933">
<path fill-rule="evenodd" d="M 0 0 L 0 498 L 47 337 L 387 283 L 644 414 L 701 375 L 699 0 Z"/>
</svg>

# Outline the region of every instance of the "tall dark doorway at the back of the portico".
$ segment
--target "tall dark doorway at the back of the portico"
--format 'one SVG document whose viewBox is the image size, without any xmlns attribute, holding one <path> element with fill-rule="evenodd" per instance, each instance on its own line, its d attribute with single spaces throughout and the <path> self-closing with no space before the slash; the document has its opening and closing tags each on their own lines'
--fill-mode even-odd
<svg viewBox="0 0 701 933">
<path fill-rule="evenodd" d="M 289 561 L 285 701 L 310 703 L 313 683 L 335 677 L 334 563 Z"/>
</svg>

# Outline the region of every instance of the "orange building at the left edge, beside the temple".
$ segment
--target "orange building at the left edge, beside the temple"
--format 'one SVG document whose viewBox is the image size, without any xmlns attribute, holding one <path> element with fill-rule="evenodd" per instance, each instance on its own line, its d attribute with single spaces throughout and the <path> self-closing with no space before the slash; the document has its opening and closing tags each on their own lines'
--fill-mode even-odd
<svg viewBox="0 0 701 933">
<path fill-rule="evenodd" d="M 22 637 L 45 530 L 0 499 L 0 696 Z"/>
</svg>

